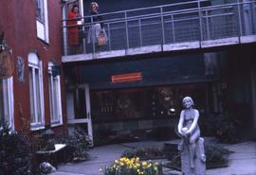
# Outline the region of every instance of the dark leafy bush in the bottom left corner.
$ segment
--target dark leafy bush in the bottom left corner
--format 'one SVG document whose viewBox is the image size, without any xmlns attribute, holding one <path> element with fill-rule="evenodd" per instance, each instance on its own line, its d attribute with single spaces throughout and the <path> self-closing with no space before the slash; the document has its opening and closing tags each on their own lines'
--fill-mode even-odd
<svg viewBox="0 0 256 175">
<path fill-rule="evenodd" d="M 31 152 L 25 135 L 10 131 L 8 124 L 0 122 L 0 174 L 31 174 Z"/>
</svg>

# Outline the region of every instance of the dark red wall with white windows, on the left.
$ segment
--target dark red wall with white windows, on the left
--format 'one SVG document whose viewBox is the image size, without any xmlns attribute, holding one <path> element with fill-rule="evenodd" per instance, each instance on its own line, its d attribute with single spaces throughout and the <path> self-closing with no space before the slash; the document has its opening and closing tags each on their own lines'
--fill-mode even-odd
<svg viewBox="0 0 256 175">
<path fill-rule="evenodd" d="M 0 15 L 2 51 L 13 61 L 12 77 L 1 79 L 0 118 L 15 131 L 65 132 L 61 2 L 1 1 Z"/>
</svg>

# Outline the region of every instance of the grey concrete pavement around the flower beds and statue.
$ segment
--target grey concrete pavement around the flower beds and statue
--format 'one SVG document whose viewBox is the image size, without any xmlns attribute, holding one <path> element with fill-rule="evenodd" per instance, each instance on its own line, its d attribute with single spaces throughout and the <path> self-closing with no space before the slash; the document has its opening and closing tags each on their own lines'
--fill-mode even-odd
<svg viewBox="0 0 256 175">
<path fill-rule="evenodd" d="M 166 141 L 165 141 L 166 142 Z M 78 164 L 64 164 L 58 166 L 58 170 L 51 175 L 102 175 L 99 169 L 110 165 L 119 159 L 124 150 L 145 147 L 162 147 L 158 141 L 143 141 L 96 147 L 90 150 L 91 159 Z M 176 143 L 177 140 L 168 142 Z M 206 139 L 206 143 L 211 140 Z M 235 145 L 226 145 L 226 148 L 234 151 L 229 155 L 229 166 L 207 170 L 207 175 L 256 175 L 256 142 L 245 142 Z M 161 160 L 165 163 L 167 160 Z M 164 168 L 165 174 L 181 175 L 181 172 Z"/>
</svg>

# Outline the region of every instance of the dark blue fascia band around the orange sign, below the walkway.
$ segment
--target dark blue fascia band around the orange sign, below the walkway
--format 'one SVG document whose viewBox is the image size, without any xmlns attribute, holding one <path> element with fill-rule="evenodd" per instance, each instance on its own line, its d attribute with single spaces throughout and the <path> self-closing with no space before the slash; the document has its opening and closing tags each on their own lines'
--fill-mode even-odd
<svg viewBox="0 0 256 175">
<path fill-rule="evenodd" d="M 115 75 L 141 73 L 137 81 L 113 83 Z M 91 89 L 130 88 L 212 80 L 205 74 L 202 54 L 164 57 L 136 61 L 116 61 L 79 66 L 80 83 Z"/>
</svg>

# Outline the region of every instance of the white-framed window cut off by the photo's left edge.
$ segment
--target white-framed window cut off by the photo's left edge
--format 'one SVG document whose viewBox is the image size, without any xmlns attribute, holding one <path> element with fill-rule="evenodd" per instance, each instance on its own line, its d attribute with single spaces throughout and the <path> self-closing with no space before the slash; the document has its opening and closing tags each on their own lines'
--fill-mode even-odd
<svg viewBox="0 0 256 175">
<path fill-rule="evenodd" d="M 0 120 L 7 122 L 14 130 L 12 81 L 12 78 L 0 80 Z"/>
</svg>

